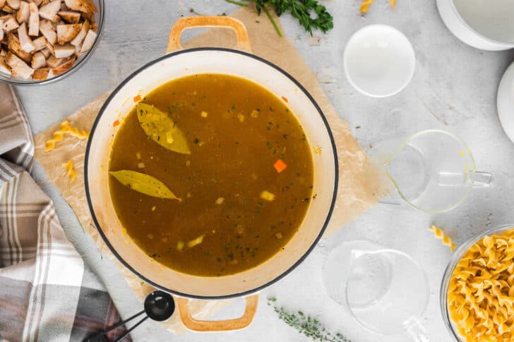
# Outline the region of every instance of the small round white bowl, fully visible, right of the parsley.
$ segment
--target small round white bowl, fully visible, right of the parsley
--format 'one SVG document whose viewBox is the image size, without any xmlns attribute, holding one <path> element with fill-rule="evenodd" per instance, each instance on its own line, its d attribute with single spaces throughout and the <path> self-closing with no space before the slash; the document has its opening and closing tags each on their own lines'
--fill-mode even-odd
<svg viewBox="0 0 514 342">
<path fill-rule="evenodd" d="M 416 57 L 402 32 L 388 25 L 368 25 L 350 37 L 343 63 L 355 89 L 371 97 L 388 97 L 409 84 Z"/>
</svg>

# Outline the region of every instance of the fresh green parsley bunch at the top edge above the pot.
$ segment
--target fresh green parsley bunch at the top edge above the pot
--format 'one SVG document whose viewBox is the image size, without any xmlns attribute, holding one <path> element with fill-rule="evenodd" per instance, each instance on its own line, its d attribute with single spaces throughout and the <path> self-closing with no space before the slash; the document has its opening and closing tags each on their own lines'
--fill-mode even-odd
<svg viewBox="0 0 514 342">
<path fill-rule="evenodd" d="M 248 6 L 253 3 L 255 5 L 257 13 L 260 15 L 263 11 L 268 18 L 270 18 L 273 27 L 277 31 L 277 34 L 282 37 L 277 23 L 270 16 L 267 6 L 271 6 L 275 9 L 277 16 L 281 16 L 282 13 L 290 12 L 294 18 L 297 18 L 300 25 L 305 28 L 307 32 L 312 35 L 312 29 L 321 30 L 327 32 L 334 27 L 333 16 L 328 13 L 327 8 L 321 5 L 318 0 L 225 0 L 230 4 L 236 4 L 239 6 Z M 312 16 L 313 14 L 313 16 Z"/>
</svg>

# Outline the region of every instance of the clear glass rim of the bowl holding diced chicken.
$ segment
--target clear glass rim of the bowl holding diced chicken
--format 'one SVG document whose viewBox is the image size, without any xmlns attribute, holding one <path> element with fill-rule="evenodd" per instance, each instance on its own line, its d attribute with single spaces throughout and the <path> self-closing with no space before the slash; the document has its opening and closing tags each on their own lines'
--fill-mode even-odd
<svg viewBox="0 0 514 342">
<path fill-rule="evenodd" d="M 58 80 L 62 80 L 66 78 L 66 76 L 71 75 L 72 73 L 75 73 L 81 66 L 83 66 L 92 56 L 92 54 L 95 52 L 95 49 L 98 46 L 98 42 L 100 42 L 100 37 L 102 36 L 102 30 L 104 28 L 104 18 L 105 18 L 105 1 L 104 0 L 92 0 L 95 5 L 98 8 L 97 13 L 95 13 L 95 20 L 98 25 L 97 30 L 97 39 L 95 40 L 95 43 L 92 44 L 91 49 L 83 54 L 82 56 L 79 56 L 75 64 L 71 67 L 70 70 L 66 71 L 65 73 L 61 73 L 60 75 L 56 75 L 53 78 L 49 78 L 47 80 L 23 80 L 21 78 L 13 78 L 11 75 L 6 75 L 5 73 L 0 72 L 0 82 L 1 83 L 8 83 L 11 85 L 44 85 L 49 83 L 57 82 Z"/>
</svg>

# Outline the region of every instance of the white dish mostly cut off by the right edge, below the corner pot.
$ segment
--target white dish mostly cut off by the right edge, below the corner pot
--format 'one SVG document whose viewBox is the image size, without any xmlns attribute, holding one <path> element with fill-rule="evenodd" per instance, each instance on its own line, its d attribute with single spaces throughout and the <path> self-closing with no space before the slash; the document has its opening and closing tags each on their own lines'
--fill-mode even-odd
<svg viewBox="0 0 514 342">
<path fill-rule="evenodd" d="M 498 87 L 497 105 L 501 126 L 514 142 L 514 63 L 503 74 Z"/>
</svg>

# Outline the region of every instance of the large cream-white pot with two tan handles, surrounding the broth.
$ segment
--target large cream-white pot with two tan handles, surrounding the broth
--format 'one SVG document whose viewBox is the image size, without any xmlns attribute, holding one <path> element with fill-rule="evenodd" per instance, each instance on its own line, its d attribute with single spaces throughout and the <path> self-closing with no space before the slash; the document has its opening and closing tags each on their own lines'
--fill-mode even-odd
<svg viewBox="0 0 514 342">
<path fill-rule="evenodd" d="M 185 28 L 222 26 L 237 33 L 239 49 L 249 50 L 249 38 L 239 20 L 227 17 L 191 17 L 179 20 L 169 37 L 168 52 L 180 49 Z M 298 233 L 285 249 L 263 264 L 239 274 L 221 277 L 191 276 L 169 269 L 143 252 L 123 233 L 109 194 L 109 153 L 119 126 L 113 122 L 126 116 L 134 106 L 133 97 L 142 97 L 169 80 L 198 73 L 237 75 L 258 83 L 278 96 L 287 97 L 313 154 L 316 200 L 311 201 Z M 220 159 L 222 160 L 222 159 Z M 222 161 L 220 161 L 222 162 Z M 275 283 L 297 267 L 323 235 L 332 213 L 337 191 L 337 153 L 332 133 L 321 109 L 291 75 L 251 53 L 221 48 L 179 50 L 148 63 L 116 87 L 100 110 L 91 130 L 85 156 L 85 187 L 92 218 L 110 250 L 138 277 L 163 291 L 173 293 L 184 324 L 196 331 L 241 329 L 251 323 L 256 311 L 256 293 Z M 246 296 L 243 317 L 223 322 L 191 318 L 188 298 L 217 299 Z"/>
</svg>

